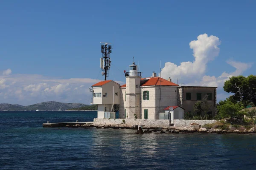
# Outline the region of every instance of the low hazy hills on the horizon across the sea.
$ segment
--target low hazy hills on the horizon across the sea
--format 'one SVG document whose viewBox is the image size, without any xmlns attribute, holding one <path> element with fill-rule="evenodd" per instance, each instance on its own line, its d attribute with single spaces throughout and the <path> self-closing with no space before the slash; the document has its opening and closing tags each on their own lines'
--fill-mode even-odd
<svg viewBox="0 0 256 170">
<path fill-rule="evenodd" d="M 61 102 L 42 102 L 42 103 L 37 103 L 34 105 L 29 105 L 29 106 L 23 106 L 23 105 L 18 105 L 18 104 L 8 104 L 8 103 L 2 103 L 0 104 L 0 111 L 58 111 L 59 108 L 61 108 L 62 111 L 64 110 L 69 110 L 73 108 L 81 108 L 84 106 L 89 106 L 89 105 L 84 105 L 81 103 L 61 103 Z"/>
</svg>

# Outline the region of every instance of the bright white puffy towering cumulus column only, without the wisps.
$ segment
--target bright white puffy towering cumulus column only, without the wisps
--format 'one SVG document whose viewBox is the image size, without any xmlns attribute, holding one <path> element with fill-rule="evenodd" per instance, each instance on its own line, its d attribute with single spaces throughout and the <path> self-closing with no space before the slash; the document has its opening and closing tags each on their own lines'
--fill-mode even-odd
<svg viewBox="0 0 256 170">
<path fill-rule="evenodd" d="M 189 43 L 190 48 L 193 49 L 194 61 L 181 62 L 180 65 L 166 62 L 161 70 L 163 78 L 187 79 L 192 76 L 203 75 L 206 72 L 207 63 L 219 54 L 220 48 L 218 48 L 218 45 L 221 44 L 221 41 L 218 37 L 208 36 L 207 34 L 201 34 L 197 39 Z"/>
</svg>

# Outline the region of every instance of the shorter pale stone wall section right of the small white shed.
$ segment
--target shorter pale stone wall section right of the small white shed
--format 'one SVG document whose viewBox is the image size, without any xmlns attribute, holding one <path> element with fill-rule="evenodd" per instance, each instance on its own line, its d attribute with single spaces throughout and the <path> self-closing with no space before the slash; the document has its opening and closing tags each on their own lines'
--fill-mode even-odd
<svg viewBox="0 0 256 170">
<path fill-rule="evenodd" d="M 206 125 L 209 123 L 215 123 L 216 120 L 183 120 L 183 119 L 175 119 L 174 127 L 188 127 L 192 123 L 197 123 L 198 125 Z"/>
</svg>

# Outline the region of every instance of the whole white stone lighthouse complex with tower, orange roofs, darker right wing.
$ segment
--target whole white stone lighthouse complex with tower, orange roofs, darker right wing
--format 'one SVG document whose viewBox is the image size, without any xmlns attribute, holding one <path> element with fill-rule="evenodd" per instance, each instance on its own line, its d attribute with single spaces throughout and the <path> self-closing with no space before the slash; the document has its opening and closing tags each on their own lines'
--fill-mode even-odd
<svg viewBox="0 0 256 170">
<path fill-rule="evenodd" d="M 93 87 L 91 104 L 98 105 L 98 118 L 116 118 L 119 111 L 120 119 L 160 119 L 160 113 L 169 106 L 180 106 L 192 112 L 195 102 L 209 96 L 212 104 L 210 116 L 216 113 L 216 88 L 179 86 L 169 80 L 157 77 L 142 78 L 137 65 L 130 65 L 125 73 L 126 84 L 119 85 L 113 80 L 98 82 Z M 180 117 L 181 119 L 181 117 Z M 183 119 L 183 117 L 182 117 Z"/>
</svg>

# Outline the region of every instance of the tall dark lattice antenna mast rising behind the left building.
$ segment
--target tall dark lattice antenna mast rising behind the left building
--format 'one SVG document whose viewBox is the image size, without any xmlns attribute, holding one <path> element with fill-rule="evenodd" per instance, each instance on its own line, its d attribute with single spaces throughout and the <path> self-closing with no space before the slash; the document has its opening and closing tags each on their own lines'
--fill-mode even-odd
<svg viewBox="0 0 256 170">
<path fill-rule="evenodd" d="M 109 57 L 109 54 L 112 52 L 112 46 L 108 45 L 111 43 L 108 42 L 101 42 L 101 53 L 102 58 L 100 59 L 100 68 L 102 70 L 102 76 L 105 76 L 105 80 L 107 80 L 108 77 L 108 71 L 110 69 L 111 60 Z"/>
</svg>

